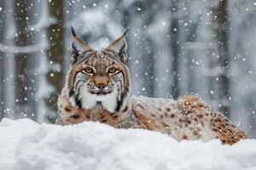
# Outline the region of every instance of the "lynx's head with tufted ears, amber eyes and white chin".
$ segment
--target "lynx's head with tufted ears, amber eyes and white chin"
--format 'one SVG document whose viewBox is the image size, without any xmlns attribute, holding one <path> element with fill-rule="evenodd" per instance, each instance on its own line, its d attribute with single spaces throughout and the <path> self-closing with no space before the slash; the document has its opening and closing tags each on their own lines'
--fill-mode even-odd
<svg viewBox="0 0 256 170">
<path fill-rule="evenodd" d="M 101 105 L 113 113 L 125 110 L 130 99 L 130 73 L 125 65 L 127 43 L 124 34 L 108 48 L 95 50 L 73 31 L 71 67 L 67 76 L 67 96 L 79 109 Z"/>
</svg>

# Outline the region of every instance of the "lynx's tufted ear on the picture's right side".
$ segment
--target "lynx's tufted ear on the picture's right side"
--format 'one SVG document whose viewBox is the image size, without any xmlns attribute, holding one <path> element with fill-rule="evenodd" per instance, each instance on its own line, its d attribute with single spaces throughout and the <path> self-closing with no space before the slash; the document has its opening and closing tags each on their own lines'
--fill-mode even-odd
<svg viewBox="0 0 256 170">
<path fill-rule="evenodd" d="M 115 56 L 118 56 L 119 59 L 125 63 L 127 59 L 127 42 L 126 42 L 126 33 L 128 28 L 125 30 L 123 35 L 118 39 L 114 40 L 106 50 L 113 52 Z"/>
</svg>

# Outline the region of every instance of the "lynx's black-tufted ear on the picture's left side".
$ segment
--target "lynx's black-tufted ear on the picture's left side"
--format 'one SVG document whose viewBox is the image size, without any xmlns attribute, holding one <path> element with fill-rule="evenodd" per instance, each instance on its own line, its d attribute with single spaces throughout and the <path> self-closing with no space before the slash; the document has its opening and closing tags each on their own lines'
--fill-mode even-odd
<svg viewBox="0 0 256 170">
<path fill-rule="evenodd" d="M 72 64 L 75 64 L 79 59 L 83 58 L 83 53 L 86 51 L 92 51 L 93 49 L 90 48 L 86 42 L 76 36 L 75 31 L 72 29 L 73 34 L 73 42 L 71 43 L 71 61 Z"/>
</svg>

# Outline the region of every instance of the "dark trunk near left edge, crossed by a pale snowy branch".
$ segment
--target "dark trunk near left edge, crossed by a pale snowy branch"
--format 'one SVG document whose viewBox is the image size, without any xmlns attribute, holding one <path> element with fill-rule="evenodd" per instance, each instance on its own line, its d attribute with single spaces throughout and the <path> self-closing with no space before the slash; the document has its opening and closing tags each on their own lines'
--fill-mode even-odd
<svg viewBox="0 0 256 170">
<path fill-rule="evenodd" d="M 26 46 L 26 26 L 27 26 L 27 1 L 15 0 L 15 28 L 16 46 Z M 26 90 L 30 87 L 27 73 L 27 54 L 15 54 L 15 114 L 25 115 L 27 113 L 27 95 Z M 16 118 L 20 115 L 16 115 Z"/>
</svg>

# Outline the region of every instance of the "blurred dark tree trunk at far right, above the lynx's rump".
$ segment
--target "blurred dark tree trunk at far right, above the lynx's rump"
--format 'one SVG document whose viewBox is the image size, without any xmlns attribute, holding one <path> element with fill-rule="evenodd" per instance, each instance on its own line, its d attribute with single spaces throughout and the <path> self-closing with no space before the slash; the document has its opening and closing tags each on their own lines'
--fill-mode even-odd
<svg viewBox="0 0 256 170">
<path fill-rule="evenodd" d="M 228 0 L 220 0 L 213 12 L 213 29 L 218 43 L 218 105 L 219 111 L 230 116 L 230 52 Z"/>
</svg>

